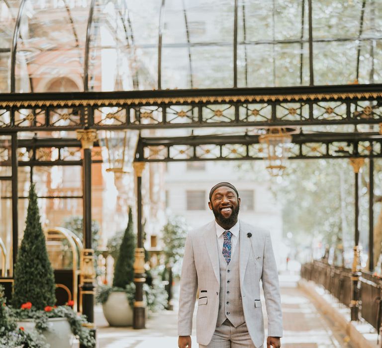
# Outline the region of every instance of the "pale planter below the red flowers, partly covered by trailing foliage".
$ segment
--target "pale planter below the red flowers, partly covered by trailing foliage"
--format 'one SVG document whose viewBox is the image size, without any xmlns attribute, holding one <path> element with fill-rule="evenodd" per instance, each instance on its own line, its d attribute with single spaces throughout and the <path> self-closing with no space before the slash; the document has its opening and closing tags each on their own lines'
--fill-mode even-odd
<svg viewBox="0 0 382 348">
<path fill-rule="evenodd" d="M 74 336 L 66 318 L 49 318 L 49 327 L 43 331 L 46 342 L 51 348 L 72 348 Z M 35 331 L 33 319 L 23 319 L 17 321 L 17 327 L 23 327 L 25 331 Z"/>
</svg>

